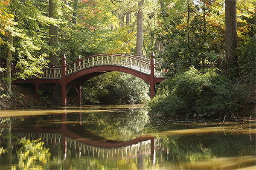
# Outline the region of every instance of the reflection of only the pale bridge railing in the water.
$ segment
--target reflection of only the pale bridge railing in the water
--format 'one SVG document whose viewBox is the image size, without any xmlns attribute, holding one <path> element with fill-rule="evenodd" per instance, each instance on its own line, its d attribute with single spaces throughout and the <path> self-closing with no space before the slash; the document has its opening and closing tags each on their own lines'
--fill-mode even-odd
<svg viewBox="0 0 256 170">
<path fill-rule="evenodd" d="M 26 132 L 17 132 L 14 133 L 18 138 L 29 138 L 32 140 L 41 138 L 42 142 L 51 143 L 54 145 L 62 144 L 64 150 L 64 159 L 67 157 L 67 149 L 76 150 L 79 153 L 79 157 L 81 156 L 89 156 L 93 158 L 111 158 L 111 159 L 119 159 L 119 158 L 131 158 L 137 157 L 141 155 L 149 155 L 151 154 L 151 158 L 154 162 L 154 148 L 152 150 L 152 145 L 154 146 L 154 139 L 148 139 L 146 141 L 138 142 L 136 144 L 131 144 L 129 146 L 124 147 L 97 147 L 91 146 L 88 144 L 84 144 L 75 139 L 64 137 L 60 133 L 26 133 Z"/>
</svg>

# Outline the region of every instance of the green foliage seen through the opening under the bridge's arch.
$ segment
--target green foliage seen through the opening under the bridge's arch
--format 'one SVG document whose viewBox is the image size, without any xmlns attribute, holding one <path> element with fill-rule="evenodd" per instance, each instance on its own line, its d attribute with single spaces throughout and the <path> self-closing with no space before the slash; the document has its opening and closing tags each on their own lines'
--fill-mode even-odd
<svg viewBox="0 0 256 170">
<path fill-rule="evenodd" d="M 149 100 L 147 83 L 122 72 L 110 72 L 94 77 L 83 86 L 82 96 L 88 102 L 137 104 Z"/>
</svg>

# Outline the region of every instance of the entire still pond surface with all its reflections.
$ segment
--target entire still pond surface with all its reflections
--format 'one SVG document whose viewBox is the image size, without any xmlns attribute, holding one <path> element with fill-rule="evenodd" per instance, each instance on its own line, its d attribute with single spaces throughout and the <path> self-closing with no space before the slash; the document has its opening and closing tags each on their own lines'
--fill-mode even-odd
<svg viewBox="0 0 256 170">
<path fill-rule="evenodd" d="M 152 118 L 142 105 L 11 110 L 0 119 L 2 170 L 256 169 L 255 120 Z"/>
</svg>

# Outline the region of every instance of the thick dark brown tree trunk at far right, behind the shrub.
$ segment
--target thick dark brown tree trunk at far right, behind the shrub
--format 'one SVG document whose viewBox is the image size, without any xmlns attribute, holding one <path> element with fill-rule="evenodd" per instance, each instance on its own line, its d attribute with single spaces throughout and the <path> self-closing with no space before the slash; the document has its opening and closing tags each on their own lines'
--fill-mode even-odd
<svg viewBox="0 0 256 170">
<path fill-rule="evenodd" d="M 226 18 L 226 71 L 234 77 L 238 75 L 238 57 L 235 54 L 237 48 L 236 33 L 236 0 L 225 0 Z"/>
</svg>

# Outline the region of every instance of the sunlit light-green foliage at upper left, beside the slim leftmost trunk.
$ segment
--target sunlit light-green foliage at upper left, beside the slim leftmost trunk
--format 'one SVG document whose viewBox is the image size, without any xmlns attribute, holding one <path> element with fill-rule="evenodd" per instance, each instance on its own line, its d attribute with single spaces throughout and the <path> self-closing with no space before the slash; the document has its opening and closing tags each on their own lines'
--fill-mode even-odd
<svg viewBox="0 0 256 170">
<path fill-rule="evenodd" d="M 27 1 L 13 1 L 8 11 L 15 11 L 13 26 L 9 28 L 9 34 L 13 35 L 13 45 L 6 43 L 1 46 L 1 57 L 6 57 L 7 49 L 12 51 L 12 61 L 17 68 L 23 72 L 19 74 L 20 78 L 26 78 L 30 75 L 37 75 L 41 69 L 47 65 L 47 51 L 42 50 L 46 46 L 47 29 L 45 25 L 51 21 L 42 20 L 45 18 L 44 11 L 38 6 L 47 5 L 47 3 Z M 4 41 L 8 37 L 3 37 Z"/>
</svg>

